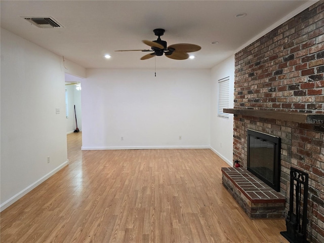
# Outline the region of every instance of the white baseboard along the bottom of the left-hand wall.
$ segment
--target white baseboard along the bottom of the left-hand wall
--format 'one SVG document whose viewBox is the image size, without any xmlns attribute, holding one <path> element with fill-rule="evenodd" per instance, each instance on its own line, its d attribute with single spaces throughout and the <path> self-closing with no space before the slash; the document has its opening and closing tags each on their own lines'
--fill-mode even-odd
<svg viewBox="0 0 324 243">
<path fill-rule="evenodd" d="M 5 201 L 5 203 L 3 203 L 2 205 L 0 205 L 0 212 L 2 212 L 3 210 L 7 209 L 10 205 L 12 205 L 13 203 L 15 203 L 15 201 L 17 201 L 18 199 L 20 199 L 21 197 L 23 197 L 24 195 L 26 195 L 28 192 L 30 192 L 32 189 L 34 189 L 36 186 L 42 184 L 44 181 L 46 181 L 51 176 L 53 176 L 55 173 L 57 173 L 58 171 L 60 171 L 64 167 L 66 167 L 68 164 L 69 164 L 69 160 L 66 160 L 63 164 L 61 164 L 60 166 L 58 166 L 57 168 L 55 168 L 53 171 L 49 172 L 48 174 L 46 174 L 42 178 L 39 178 L 37 181 L 35 181 L 31 185 L 27 186 L 25 189 L 23 189 L 22 191 L 18 192 L 16 195 L 14 195 L 13 197 L 11 197 L 7 201 Z"/>
</svg>

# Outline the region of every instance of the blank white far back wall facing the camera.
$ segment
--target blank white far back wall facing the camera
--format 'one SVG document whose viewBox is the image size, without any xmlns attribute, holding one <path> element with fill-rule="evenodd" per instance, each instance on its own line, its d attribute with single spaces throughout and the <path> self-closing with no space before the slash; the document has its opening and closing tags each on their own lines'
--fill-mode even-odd
<svg viewBox="0 0 324 243">
<path fill-rule="evenodd" d="M 210 69 L 87 69 L 83 149 L 209 148 L 210 82 Z"/>
</svg>

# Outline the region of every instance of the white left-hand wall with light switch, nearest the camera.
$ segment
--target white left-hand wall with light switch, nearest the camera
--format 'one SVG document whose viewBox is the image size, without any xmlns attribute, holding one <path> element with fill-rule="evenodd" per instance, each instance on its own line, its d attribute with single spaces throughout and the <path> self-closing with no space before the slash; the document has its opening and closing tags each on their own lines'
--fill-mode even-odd
<svg viewBox="0 0 324 243">
<path fill-rule="evenodd" d="M 68 163 L 64 71 L 61 57 L 1 29 L 1 210 Z"/>
</svg>

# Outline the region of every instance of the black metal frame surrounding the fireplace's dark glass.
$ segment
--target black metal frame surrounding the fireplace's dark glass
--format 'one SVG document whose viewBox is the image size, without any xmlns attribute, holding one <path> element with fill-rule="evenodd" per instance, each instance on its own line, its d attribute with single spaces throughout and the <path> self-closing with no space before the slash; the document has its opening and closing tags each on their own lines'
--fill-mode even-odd
<svg viewBox="0 0 324 243">
<path fill-rule="evenodd" d="M 255 139 L 260 139 L 261 141 L 267 141 L 274 145 L 274 156 L 273 156 L 273 178 L 272 181 L 269 181 L 266 177 L 259 174 L 257 171 L 253 170 L 250 167 L 250 137 L 254 137 Z M 280 149 L 281 149 L 281 139 L 276 136 L 268 135 L 265 133 L 257 132 L 254 130 L 248 130 L 248 166 L 247 169 L 253 175 L 261 179 L 268 186 L 273 188 L 276 191 L 280 191 Z"/>
</svg>

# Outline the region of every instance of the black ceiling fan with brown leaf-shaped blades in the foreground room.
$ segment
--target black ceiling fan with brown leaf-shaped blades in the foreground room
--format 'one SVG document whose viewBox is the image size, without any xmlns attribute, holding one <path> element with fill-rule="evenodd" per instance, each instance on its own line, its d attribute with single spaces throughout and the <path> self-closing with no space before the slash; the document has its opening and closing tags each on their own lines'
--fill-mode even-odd
<svg viewBox="0 0 324 243">
<path fill-rule="evenodd" d="M 169 57 L 171 59 L 175 60 L 185 60 L 189 58 L 188 52 L 196 52 L 201 49 L 200 46 L 194 45 L 194 44 L 173 44 L 171 46 L 167 47 L 167 42 L 162 41 L 160 36 L 164 34 L 164 29 L 154 29 L 154 34 L 157 37 L 156 41 L 146 41 L 143 40 L 142 42 L 148 46 L 151 47 L 151 50 L 118 50 L 115 52 L 127 52 L 127 51 L 141 51 L 141 52 L 152 52 L 149 54 L 144 55 L 141 60 L 146 60 L 154 56 L 162 56 L 163 54 L 166 55 L 166 57 Z"/>
</svg>

